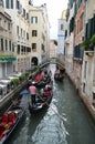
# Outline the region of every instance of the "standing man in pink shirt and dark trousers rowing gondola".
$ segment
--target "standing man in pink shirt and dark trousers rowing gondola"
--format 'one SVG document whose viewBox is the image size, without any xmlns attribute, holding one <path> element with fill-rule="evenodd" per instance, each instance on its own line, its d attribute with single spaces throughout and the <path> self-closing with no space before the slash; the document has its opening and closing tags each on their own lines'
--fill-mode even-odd
<svg viewBox="0 0 95 144">
<path fill-rule="evenodd" d="M 32 82 L 32 85 L 29 86 L 29 91 L 30 91 L 30 94 L 31 94 L 32 105 L 35 104 L 35 95 L 36 95 L 36 88 L 35 88 L 34 84 L 35 84 L 35 83 Z"/>
</svg>

